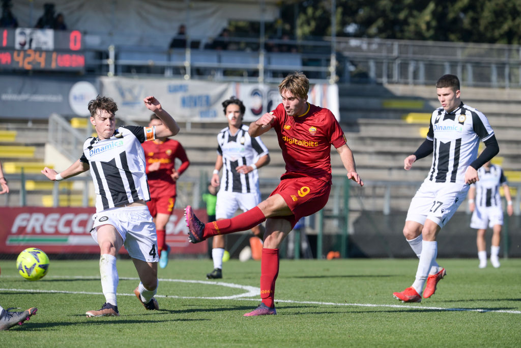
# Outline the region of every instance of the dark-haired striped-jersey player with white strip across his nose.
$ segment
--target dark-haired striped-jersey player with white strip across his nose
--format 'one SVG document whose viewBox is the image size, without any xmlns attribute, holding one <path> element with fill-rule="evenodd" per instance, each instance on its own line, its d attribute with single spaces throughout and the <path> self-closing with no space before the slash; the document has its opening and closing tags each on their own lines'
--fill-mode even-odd
<svg viewBox="0 0 521 348">
<path fill-rule="evenodd" d="M 248 127 L 242 124 L 246 107 L 239 99 L 231 97 L 222 102 L 228 127 L 217 135 L 217 160 L 212 175 L 212 186 L 219 187 L 215 216 L 217 220 L 230 219 L 238 208 L 248 211 L 261 202 L 257 169 L 269 163 L 268 148 L 260 137 L 252 138 Z M 222 168 L 222 178 L 219 171 Z M 252 227 L 255 236 L 262 239 L 261 225 Z M 225 252 L 225 236 L 212 238 L 214 270 L 206 274 L 208 279 L 222 278 L 222 256 Z"/>
</svg>

